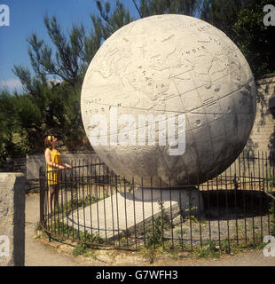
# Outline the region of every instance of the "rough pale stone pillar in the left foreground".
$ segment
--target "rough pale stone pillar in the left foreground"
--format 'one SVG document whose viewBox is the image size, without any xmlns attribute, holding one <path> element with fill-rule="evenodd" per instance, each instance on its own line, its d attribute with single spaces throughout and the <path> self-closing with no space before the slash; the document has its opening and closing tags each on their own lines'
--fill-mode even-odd
<svg viewBox="0 0 275 284">
<path fill-rule="evenodd" d="M 25 262 L 25 177 L 0 173 L 0 266 Z"/>
</svg>

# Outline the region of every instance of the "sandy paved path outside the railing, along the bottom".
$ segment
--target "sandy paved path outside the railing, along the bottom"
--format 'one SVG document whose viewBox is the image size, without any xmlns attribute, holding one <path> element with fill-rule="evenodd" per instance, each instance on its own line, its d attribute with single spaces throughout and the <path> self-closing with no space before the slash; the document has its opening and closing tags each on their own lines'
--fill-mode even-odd
<svg viewBox="0 0 275 284">
<path fill-rule="evenodd" d="M 35 240 L 35 225 L 39 219 L 39 196 L 26 197 L 26 266 L 89 266 L 89 265 L 148 265 L 136 253 L 102 251 L 96 257 L 70 256 L 63 250 L 53 248 L 42 241 Z M 263 251 L 255 250 L 237 256 L 223 256 L 218 259 L 180 259 L 159 260 L 154 265 L 183 266 L 275 266 L 275 257 L 263 256 Z"/>
</svg>

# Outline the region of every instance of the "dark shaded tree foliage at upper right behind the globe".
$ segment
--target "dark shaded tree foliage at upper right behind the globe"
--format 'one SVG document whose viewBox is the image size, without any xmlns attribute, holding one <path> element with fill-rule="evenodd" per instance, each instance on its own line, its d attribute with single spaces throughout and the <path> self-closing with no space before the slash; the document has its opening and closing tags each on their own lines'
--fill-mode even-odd
<svg viewBox="0 0 275 284">
<path fill-rule="evenodd" d="M 221 29 L 238 45 L 255 75 L 275 70 L 274 28 L 263 25 L 263 7 L 274 0 L 205 0 L 200 18 Z"/>
</svg>

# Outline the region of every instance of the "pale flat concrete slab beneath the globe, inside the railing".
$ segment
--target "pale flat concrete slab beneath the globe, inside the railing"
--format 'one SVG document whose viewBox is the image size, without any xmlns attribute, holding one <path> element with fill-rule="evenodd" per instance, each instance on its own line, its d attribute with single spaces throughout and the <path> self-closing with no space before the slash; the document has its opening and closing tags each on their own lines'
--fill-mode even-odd
<svg viewBox="0 0 275 284">
<path fill-rule="evenodd" d="M 163 201 L 162 214 L 176 217 L 180 208 L 177 201 Z M 153 217 L 161 215 L 161 205 L 154 201 L 136 199 L 130 193 L 115 193 L 84 209 L 76 209 L 65 218 L 75 229 L 116 239 L 133 233 L 144 233 L 144 225 L 152 225 Z"/>
</svg>

